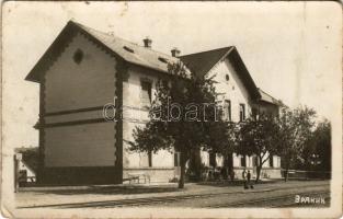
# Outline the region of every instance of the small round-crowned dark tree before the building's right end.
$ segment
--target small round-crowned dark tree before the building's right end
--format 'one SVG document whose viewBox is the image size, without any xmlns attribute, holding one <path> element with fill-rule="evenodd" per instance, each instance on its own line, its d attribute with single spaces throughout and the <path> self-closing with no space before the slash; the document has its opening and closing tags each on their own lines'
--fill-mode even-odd
<svg viewBox="0 0 343 219">
<path fill-rule="evenodd" d="M 272 154 L 276 153 L 278 129 L 275 117 L 272 115 L 260 115 L 258 118 L 249 117 L 238 124 L 236 152 L 242 155 L 256 155 L 256 180 L 261 175 L 263 164 Z"/>
</svg>

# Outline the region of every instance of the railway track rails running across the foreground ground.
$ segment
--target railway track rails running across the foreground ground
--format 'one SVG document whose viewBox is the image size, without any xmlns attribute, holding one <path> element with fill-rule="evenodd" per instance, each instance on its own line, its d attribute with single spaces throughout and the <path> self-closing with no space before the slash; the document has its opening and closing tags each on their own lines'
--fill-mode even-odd
<svg viewBox="0 0 343 219">
<path fill-rule="evenodd" d="M 313 185 L 315 187 L 321 187 L 322 185 Z M 307 187 L 307 186 L 299 186 Z M 193 195 L 178 195 L 178 196 L 163 196 L 163 197 L 148 197 L 148 198 L 128 198 L 128 199 L 118 199 L 118 200 L 103 200 L 103 201 L 88 201 L 88 203 L 71 203 L 71 204 L 57 204 L 57 205 L 42 205 L 42 206 L 30 206 L 30 207 L 21 207 L 21 208 L 37 208 L 37 207 L 53 207 L 53 208 L 113 208 L 113 207 L 139 207 L 139 206 L 153 206 L 157 204 L 169 204 L 169 203 L 176 203 L 180 200 L 187 200 L 187 199 L 202 199 L 202 198 L 211 198 L 218 196 L 228 196 L 228 195 L 238 195 L 238 194 L 253 194 L 253 193 L 270 193 L 270 192 L 281 192 L 291 189 L 290 187 L 285 188 L 270 188 L 270 189 L 255 189 L 255 191 L 241 191 L 241 192 L 227 192 L 227 193 L 208 193 L 208 194 L 193 194 Z M 316 192 L 313 192 L 316 193 Z M 307 192 L 306 194 L 313 194 L 311 192 Z M 299 194 L 300 195 L 300 194 Z M 275 200 L 295 197 L 293 195 L 284 195 L 278 197 L 270 197 L 263 199 L 255 199 L 249 201 L 241 201 L 241 203 L 233 203 L 233 204 L 221 204 L 221 205 L 214 205 L 208 206 L 209 208 L 225 208 L 225 207 L 240 207 L 240 206 L 248 206 L 253 204 L 263 204 L 263 201 L 272 201 L 273 198 Z"/>
</svg>

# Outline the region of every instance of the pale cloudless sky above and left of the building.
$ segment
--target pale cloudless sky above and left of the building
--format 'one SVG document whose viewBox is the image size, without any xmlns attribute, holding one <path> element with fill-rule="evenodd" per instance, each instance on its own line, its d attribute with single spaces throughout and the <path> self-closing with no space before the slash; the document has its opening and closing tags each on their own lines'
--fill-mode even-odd
<svg viewBox="0 0 343 219">
<path fill-rule="evenodd" d="M 341 111 L 341 5 L 336 2 L 11 2 L 3 7 L 3 136 L 37 146 L 38 84 L 24 78 L 75 21 L 183 55 L 236 46 L 258 87 L 291 107 Z"/>
</svg>

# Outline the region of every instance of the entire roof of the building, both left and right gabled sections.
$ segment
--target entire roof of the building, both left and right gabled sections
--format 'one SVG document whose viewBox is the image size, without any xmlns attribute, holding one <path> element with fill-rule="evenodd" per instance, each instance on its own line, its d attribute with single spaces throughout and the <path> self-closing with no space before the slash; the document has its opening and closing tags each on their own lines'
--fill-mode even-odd
<svg viewBox="0 0 343 219">
<path fill-rule="evenodd" d="M 181 60 L 191 71 L 204 76 L 220 60 L 228 58 L 232 62 L 233 68 L 237 70 L 252 99 L 261 97 L 254 81 L 235 46 L 185 55 L 181 56 L 179 59 L 151 48 L 139 46 L 112 34 L 95 31 L 73 21 L 69 21 L 59 33 L 54 43 L 26 76 L 26 80 L 39 82 L 41 73 L 44 73 L 49 68 L 68 45 L 70 38 L 78 33 L 83 34 L 114 57 L 161 72 L 168 72 L 169 62 L 178 62 Z"/>
</svg>

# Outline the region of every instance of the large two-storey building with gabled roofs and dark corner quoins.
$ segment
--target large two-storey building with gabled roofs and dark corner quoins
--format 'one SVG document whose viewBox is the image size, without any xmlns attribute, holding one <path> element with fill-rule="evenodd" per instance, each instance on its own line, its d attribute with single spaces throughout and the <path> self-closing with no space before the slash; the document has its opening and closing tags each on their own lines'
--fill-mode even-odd
<svg viewBox="0 0 343 219">
<path fill-rule="evenodd" d="M 27 74 L 39 83 L 39 168 L 46 184 L 123 183 L 144 173 L 155 182 L 178 177 L 178 153 L 132 152 L 133 130 L 148 122 L 156 84 L 170 77 L 168 62 L 182 61 L 204 77 L 215 74 L 218 101 L 227 119 L 243 120 L 256 112 L 278 112 L 279 102 L 258 89 L 236 47 L 180 56 L 144 46 L 70 21 Z M 104 118 L 104 106 L 116 119 Z M 108 116 L 108 115 L 107 115 Z M 210 155 L 201 152 L 209 165 Z M 232 155 L 239 176 L 254 169 L 255 158 Z M 216 155 L 216 165 L 224 165 Z M 281 177 L 279 158 L 265 163 L 262 176 Z"/>
</svg>

